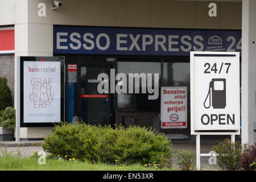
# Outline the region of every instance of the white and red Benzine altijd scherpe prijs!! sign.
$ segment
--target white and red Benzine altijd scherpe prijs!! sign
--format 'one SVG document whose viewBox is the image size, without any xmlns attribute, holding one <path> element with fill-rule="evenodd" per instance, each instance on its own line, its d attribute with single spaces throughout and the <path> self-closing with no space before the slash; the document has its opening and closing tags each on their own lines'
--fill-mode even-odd
<svg viewBox="0 0 256 182">
<path fill-rule="evenodd" d="M 161 87 L 161 129 L 187 128 L 187 87 Z"/>
</svg>

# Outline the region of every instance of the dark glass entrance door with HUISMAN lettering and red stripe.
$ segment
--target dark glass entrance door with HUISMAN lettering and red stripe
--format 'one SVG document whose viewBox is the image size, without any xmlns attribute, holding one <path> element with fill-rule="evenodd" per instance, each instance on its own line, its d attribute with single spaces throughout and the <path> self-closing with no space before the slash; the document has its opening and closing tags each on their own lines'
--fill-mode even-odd
<svg viewBox="0 0 256 182">
<path fill-rule="evenodd" d="M 97 77 L 100 73 L 109 75 L 110 66 L 98 67 L 98 65 L 80 67 L 80 120 L 91 125 L 111 124 L 111 95 L 108 92 L 99 94 L 97 86 L 100 81 Z M 108 86 L 109 80 L 104 81 Z"/>
</svg>

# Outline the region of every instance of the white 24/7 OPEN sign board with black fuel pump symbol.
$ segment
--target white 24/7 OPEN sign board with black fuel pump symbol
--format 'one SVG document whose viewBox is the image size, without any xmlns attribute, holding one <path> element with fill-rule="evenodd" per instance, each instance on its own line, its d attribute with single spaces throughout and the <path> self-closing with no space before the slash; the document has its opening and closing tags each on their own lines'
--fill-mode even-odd
<svg viewBox="0 0 256 182">
<path fill-rule="evenodd" d="M 239 52 L 191 52 L 191 134 L 240 133 Z"/>
</svg>

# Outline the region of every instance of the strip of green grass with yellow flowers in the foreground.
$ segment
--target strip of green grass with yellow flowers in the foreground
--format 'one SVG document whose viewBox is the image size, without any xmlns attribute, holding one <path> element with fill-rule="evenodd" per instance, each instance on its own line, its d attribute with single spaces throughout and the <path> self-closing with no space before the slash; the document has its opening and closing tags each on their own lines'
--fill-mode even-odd
<svg viewBox="0 0 256 182">
<path fill-rule="evenodd" d="M 170 168 L 150 167 L 142 164 L 115 165 L 81 162 L 79 160 L 46 159 L 46 164 L 39 164 L 36 158 L 19 158 L 13 155 L 0 157 L 0 171 L 155 171 L 171 170 Z"/>
</svg>

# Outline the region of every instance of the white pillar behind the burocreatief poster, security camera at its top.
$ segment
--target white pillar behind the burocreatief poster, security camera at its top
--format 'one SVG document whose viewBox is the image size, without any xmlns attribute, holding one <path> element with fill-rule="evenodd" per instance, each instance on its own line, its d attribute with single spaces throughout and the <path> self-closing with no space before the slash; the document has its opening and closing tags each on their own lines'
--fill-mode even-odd
<svg viewBox="0 0 256 182">
<path fill-rule="evenodd" d="M 40 3 L 44 3 L 45 15 L 39 16 L 38 11 L 44 11 Z M 44 6 L 43 5 L 43 6 Z M 15 0 L 15 109 L 18 103 L 17 56 L 53 56 L 53 15 L 52 0 Z M 19 112 L 16 112 L 19 114 Z M 18 119 L 17 119 L 18 122 Z M 51 127 L 23 127 L 20 138 L 43 138 Z M 19 137 L 19 131 L 16 131 Z M 19 138 L 16 139 L 17 141 Z"/>
</svg>

